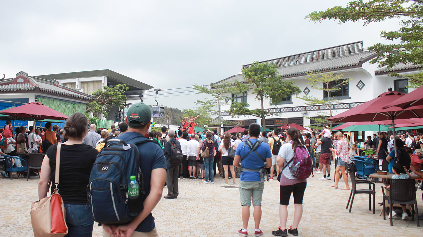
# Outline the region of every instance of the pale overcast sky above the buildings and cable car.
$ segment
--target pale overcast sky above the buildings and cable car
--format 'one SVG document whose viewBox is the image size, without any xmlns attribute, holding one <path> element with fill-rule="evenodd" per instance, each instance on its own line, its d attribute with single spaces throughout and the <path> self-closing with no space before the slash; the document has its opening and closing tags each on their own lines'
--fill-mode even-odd
<svg viewBox="0 0 423 237">
<path fill-rule="evenodd" d="M 381 30 L 398 29 L 397 20 L 363 27 L 304 19 L 347 2 L 0 0 L 0 74 L 110 69 L 166 90 L 217 82 L 254 60 L 362 40 L 368 47 L 382 42 Z M 182 110 L 205 97 L 174 95 L 157 100 Z"/>
</svg>

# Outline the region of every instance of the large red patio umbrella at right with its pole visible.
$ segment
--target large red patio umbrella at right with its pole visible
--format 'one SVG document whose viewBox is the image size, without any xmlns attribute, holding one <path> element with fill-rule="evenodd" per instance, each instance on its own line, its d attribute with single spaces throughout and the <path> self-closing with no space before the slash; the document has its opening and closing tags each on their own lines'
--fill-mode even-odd
<svg viewBox="0 0 423 237">
<path fill-rule="evenodd" d="M 401 98 L 404 94 L 389 91 L 382 93 L 371 101 L 365 102 L 341 114 L 330 117 L 328 120 L 334 122 L 374 122 L 382 120 L 392 120 L 393 133 L 395 134 L 396 119 L 422 118 L 423 109 L 418 106 L 412 106 L 412 110 L 398 110 L 398 107 L 382 109 L 389 101 Z M 394 140 L 394 146 L 396 141 Z M 396 153 L 396 150 L 395 150 Z M 396 154 L 395 154 L 396 155 Z"/>
</svg>

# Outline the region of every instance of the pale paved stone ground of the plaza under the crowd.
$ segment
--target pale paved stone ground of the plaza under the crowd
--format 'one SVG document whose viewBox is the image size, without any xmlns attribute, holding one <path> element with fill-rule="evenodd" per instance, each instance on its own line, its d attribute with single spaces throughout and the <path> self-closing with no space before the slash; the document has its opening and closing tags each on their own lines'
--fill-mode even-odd
<svg viewBox="0 0 423 237">
<path fill-rule="evenodd" d="M 332 166 L 333 167 L 333 166 Z M 376 184 L 376 215 L 368 210 L 368 196 L 356 195 L 352 212 L 345 210 L 349 191 L 330 188 L 331 181 L 319 181 L 322 175 L 308 179 L 304 197 L 304 213 L 299 225 L 299 236 L 414 236 L 422 233 L 423 227 L 416 222 L 389 219 L 379 216 L 382 207 L 382 191 Z M 333 171 L 332 171 L 333 176 Z M 238 181 L 238 180 L 237 180 Z M 179 180 L 178 199 L 162 199 L 154 209 L 157 231 L 160 236 L 170 237 L 214 237 L 238 236 L 242 228 L 239 191 L 236 187 L 222 186 L 222 178 L 217 176 L 214 184 L 204 184 L 200 180 Z M 30 223 L 31 203 L 37 199 L 38 179 L 0 179 L 0 237 L 33 236 Z M 236 185 L 237 186 L 237 185 Z M 166 193 L 165 188 L 163 194 Z M 422 191 L 417 191 L 418 206 L 423 211 Z M 292 223 L 294 200 L 288 206 L 288 225 Z M 279 184 L 277 180 L 266 182 L 263 196 L 263 216 L 260 229 L 263 236 L 272 236 L 279 224 Z M 251 208 L 249 236 L 253 236 L 254 221 Z M 423 221 L 421 223 L 423 226 Z M 93 236 L 101 236 L 101 228 L 94 225 Z"/>
</svg>

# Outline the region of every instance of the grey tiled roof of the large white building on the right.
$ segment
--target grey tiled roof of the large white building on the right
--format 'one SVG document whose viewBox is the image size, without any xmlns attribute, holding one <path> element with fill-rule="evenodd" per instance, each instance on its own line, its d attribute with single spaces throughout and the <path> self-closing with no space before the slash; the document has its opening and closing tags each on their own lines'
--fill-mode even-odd
<svg viewBox="0 0 423 237">
<path fill-rule="evenodd" d="M 350 67 L 350 66 L 360 66 L 361 63 L 368 58 L 374 57 L 376 55 L 375 52 L 372 51 L 365 51 L 365 52 L 359 52 L 354 54 L 348 54 L 338 57 L 330 57 L 327 59 L 321 59 L 321 60 L 315 60 L 307 63 L 298 63 L 293 65 L 287 65 L 278 67 L 277 72 L 280 76 L 283 78 L 286 77 L 293 77 L 293 76 L 302 76 L 306 73 L 313 73 L 313 72 L 319 72 L 319 71 L 336 71 L 341 70 L 342 68 Z M 228 77 L 226 79 L 223 79 L 222 81 L 235 81 L 238 80 L 240 82 L 244 81 L 245 79 L 242 77 L 242 74 L 233 75 L 231 77 Z M 219 82 L 212 83 L 218 84 Z"/>
</svg>

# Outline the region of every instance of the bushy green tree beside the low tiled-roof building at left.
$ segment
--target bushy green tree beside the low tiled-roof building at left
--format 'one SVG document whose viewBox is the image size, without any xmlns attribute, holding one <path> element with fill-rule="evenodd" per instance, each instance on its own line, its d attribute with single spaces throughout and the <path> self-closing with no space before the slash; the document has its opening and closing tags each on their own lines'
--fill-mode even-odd
<svg viewBox="0 0 423 237">
<path fill-rule="evenodd" d="M 105 117 L 109 115 L 112 106 L 118 107 L 121 111 L 126 104 L 125 91 L 129 90 L 124 84 L 115 85 L 113 88 L 104 86 L 102 89 L 93 92 L 93 102 L 88 102 L 86 106 L 87 114 L 93 113 L 99 117 L 103 114 Z"/>
</svg>

